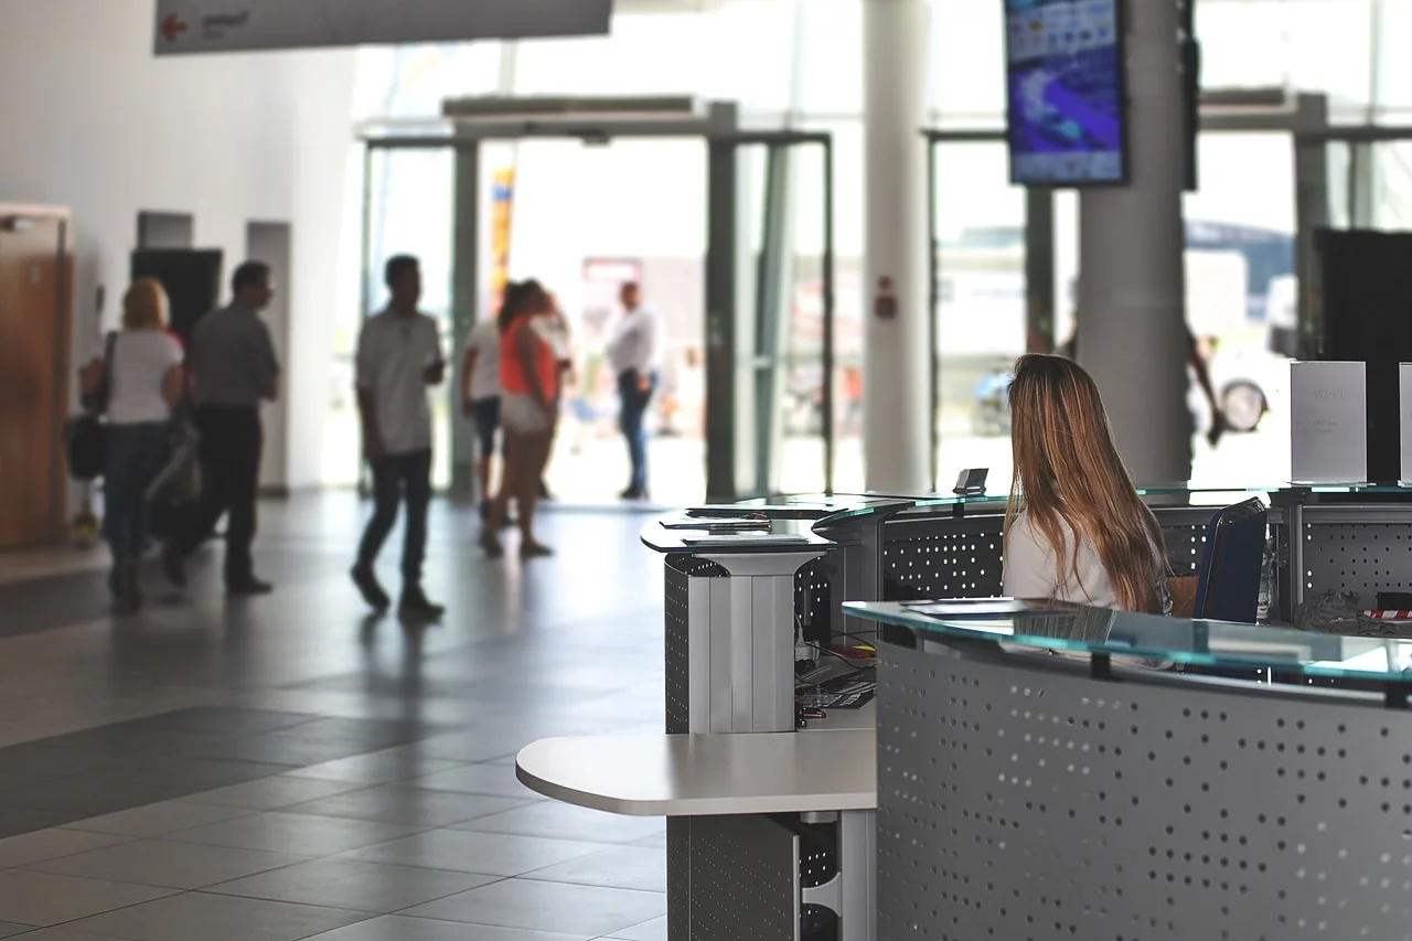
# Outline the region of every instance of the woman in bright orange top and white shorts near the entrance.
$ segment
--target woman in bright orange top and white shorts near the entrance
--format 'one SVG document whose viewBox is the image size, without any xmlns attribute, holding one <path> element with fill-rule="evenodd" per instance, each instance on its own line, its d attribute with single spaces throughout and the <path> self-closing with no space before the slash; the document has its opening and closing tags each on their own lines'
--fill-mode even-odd
<svg viewBox="0 0 1412 941">
<path fill-rule="evenodd" d="M 520 558 L 551 555 L 534 537 L 539 475 L 549 459 L 554 415 L 559 410 L 559 365 L 554 348 L 534 329 L 534 319 L 554 312 L 538 281 L 505 287 L 500 308 L 500 424 L 505 430 L 505 470 L 490 519 L 480 534 L 486 555 L 500 558 L 500 524 L 513 499 L 520 509 Z"/>
</svg>

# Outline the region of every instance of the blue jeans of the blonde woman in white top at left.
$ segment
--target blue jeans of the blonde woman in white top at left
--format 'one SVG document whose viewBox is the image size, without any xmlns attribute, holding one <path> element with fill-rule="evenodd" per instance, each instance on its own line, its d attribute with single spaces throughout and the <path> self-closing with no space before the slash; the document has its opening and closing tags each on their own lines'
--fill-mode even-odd
<svg viewBox="0 0 1412 941">
<path fill-rule="evenodd" d="M 103 535 L 113 564 L 136 562 L 151 541 L 152 507 L 147 487 L 167 461 L 167 422 L 107 427 L 103 473 Z"/>
</svg>

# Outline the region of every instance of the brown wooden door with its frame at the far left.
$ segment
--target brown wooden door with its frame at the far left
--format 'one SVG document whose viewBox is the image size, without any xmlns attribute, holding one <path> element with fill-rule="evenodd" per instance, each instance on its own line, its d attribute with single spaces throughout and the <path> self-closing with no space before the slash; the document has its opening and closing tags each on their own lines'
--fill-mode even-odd
<svg viewBox="0 0 1412 941">
<path fill-rule="evenodd" d="M 0 206 L 0 548 L 64 534 L 69 215 Z"/>
</svg>

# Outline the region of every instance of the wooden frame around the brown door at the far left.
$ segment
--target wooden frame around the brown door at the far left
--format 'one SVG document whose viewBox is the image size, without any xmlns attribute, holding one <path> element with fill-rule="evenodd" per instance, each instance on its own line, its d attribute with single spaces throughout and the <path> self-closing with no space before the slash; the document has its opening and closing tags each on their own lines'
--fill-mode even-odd
<svg viewBox="0 0 1412 941">
<path fill-rule="evenodd" d="M 41 219 L 59 227 L 55 251 L 54 291 L 54 401 L 49 421 L 49 538 L 62 540 L 68 530 L 68 461 L 64 448 L 64 430 L 69 414 L 69 383 L 73 319 L 73 213 L 65 206 L 35 203 L 0 203 L 0 226 L 10 226 L 17 219 Z M 102 331 L 100 331 L 102 332 Z"/>
</svg>

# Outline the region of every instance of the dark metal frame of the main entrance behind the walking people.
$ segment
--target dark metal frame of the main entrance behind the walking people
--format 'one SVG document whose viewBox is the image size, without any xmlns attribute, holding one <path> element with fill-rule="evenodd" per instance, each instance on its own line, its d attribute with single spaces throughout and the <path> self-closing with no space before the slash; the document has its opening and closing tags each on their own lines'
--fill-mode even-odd
<svg viewBox="0 0 1412 941">
<path fill-rule="evenodd" d="M 624 103 L 628 103 L 624 99 Z M 450 103 L 448 103 L 450 105 Z M 737 435 L 734 430 L 734 400 L 738 390 L 737 363 L 734 348 L 730 345 L 733 335 L 727 329 L 724 336 L 710 329 L 713 311 L 720 309 L 726 316 L 716 318 L 727 328 L 734 321 L 737 305 L 731 285 L 723 278 L 731 277 L 726 268 L 734 264 L 736 230 L 743 219 L 738 219 L 734 201 L 726 199 L 719 191 L 724 179 L 734 185 L 734 175 L 727 164 L 734 162 L 734 155 L 743 147 L 764 146 L 770 148 L 772 165 L 782 165 L 781 157 L 795 147 L 819 146 L 823 150 L 823 257 L 820 261 L 820 280 L 823 281 L 823 400 L 822 437 L 823 437 L 823 480 L 825 490 L 833 492 L 834 480 L 834 315 L 836 315 L 836 287 L 834 287 L 834 205 L 833 205 L 833 136 L 827 131 L 802 130 L 741 130 L 738 109 L 731 102 L 709 102 L 698 106 L 690 113 L 672 116 L 650 116 L 644 119 L 624 117 L 611 109 L 602 113 L 545 113 L 532 119 L 503 117 L 513 113 L 514 99 L 501 99 L 486 117 L 455 119 L 441 123 L 432 130 L 400 129 L 397 126 L 370 126 L 360 134 L 363 144 L 363 178 L 361 178 L 361 239 L 360 239 L 360 297 L 364 316 L 371 309 L 369 291 L 369 267 L 373 256 L 373 155 L 380 151 L 398 150 L 450 150 L 456 160 L 457 181 L 472 181 L 472 185 L 456 187 L 453 208 L 453 283 L 452 283 L 452 342 L 453 349 L 465 346 L 465 339 L 474 325 L 476 312 L 480 307 L 480 146 L 484 143 L 507 143 L 517 140 L 582 140 L 585 143 L 606 143 L 617 138 L 651 140 L 651 138 L 698 138 L 707 147 L 707 257 L 706 257 L 706 311 L 703 322 L 703 349 L 706 350 L 706 383 L 707 410 L 705 428 L 706 446 L 706 489 L 707 502 L 726 502 L 743 499 L 746 496 L 767 496 L 772 468 L 778 465 L 778 455 L 772 445 L 772 435 L 760 422 L 755 434 L 748 442 L 748 448 L 737 452 Z M 602 103 L 600 103 L 602 105 Z M 727 160 L 729 158 L 729 160 Z M 772 174 L 767 174 L 771 175 Z M 768 184 L 767 184 L 768 185 Z M 730 203 L 727 208 L 724 203 Z M 770 205 L 767 203 L 767 227 Z M 758 261 L 758 260 L 757 260 Z M 731 271 L 734 268 L 731 267 Z M 767 311 L 778 314 L 778 309 Z M 779 321 L 784 324 L 784 321 Z M 724 348 L 722 343 L 726 343 Z M 714 350 L 714 355 L 713 355 Z M 729 357 L 722 363 L 722 356 Z M 757 359 L 751 376 L 764 374 L 764 370 L 778 369 L 786 357 L 772 360 Z M 456 383 L 448 384 L 452 396 L 456 394 Z M 452 415 L 457 414 L 459 403 L 452 403 Z M 768 417 L 778 421 L 778 403 L 767 404 Z M 450 492 L 456 497 L 470 496 L 474 480 L 473 435 L 452 418 L 452 485 Z"/>
</svg>

